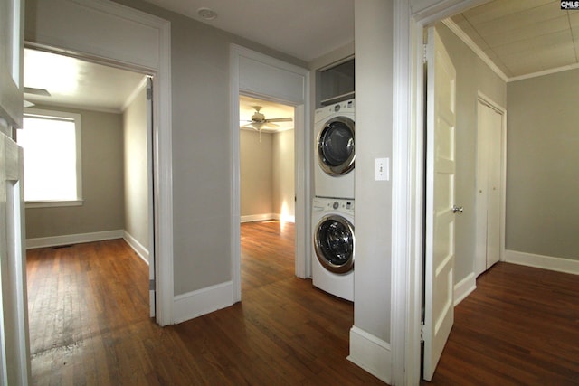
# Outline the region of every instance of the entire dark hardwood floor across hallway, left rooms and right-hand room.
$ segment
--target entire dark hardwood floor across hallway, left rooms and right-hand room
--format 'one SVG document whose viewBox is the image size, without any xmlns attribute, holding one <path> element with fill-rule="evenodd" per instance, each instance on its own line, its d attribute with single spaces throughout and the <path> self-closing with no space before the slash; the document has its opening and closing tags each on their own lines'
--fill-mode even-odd
<svg viewBox="0 0 579 386">
<path fill-rule="evenodd" d="M 242 303 L 164 328 L 123 240 L 29 250 L 33 384 L 384 384 L 346 360 L 353 306 L 295 278 L 293 242 L 242 224 Z M 477 286 L 424 385 L 579 385 L 577 276 L 498 263 Z"/>
</svg>

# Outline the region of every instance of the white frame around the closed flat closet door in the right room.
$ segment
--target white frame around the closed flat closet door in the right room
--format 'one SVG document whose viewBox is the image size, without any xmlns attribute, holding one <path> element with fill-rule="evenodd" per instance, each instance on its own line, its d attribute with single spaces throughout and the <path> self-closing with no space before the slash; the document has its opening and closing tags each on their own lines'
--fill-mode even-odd
<svg viewBox="0 0 579 386">
<path fill-rule="evenodd" d="M 492 108 L 493 110 L 497 111 L 498 114 L 500 114 L 501 116 L 501 122 L 500 122 L 500 150 L 499 150 L 499 154 L 500 154 L 500 191 L 498 192 L 499 194 L 499 208 L 498 210 L 499 212 L 499 234 L 498 234 L 498 238 L 499 238 L 499 242 L 500 245 L 498 247 L 498 253 L 499 253 L 499 261 L 504 261 L 505 260 L 505 225 L 506 225 L 506 220 L 505 220 L 505 214 L 506 214 L 506 209 L 507 209 L 507 190 L 506 190 L 506 186 L 507 186 L 507 109 L 503 108 L 502 106 L 500 106 L 498 103 L 496 103 L 493 99 L 490 99 L 488 96 L 486 96 L 484 93 L 479 91 L 479 95 L 477 98 L 477 104 L 478 103 L 482 103 L 486 106 L 488 106 L 489 108 Z M 477 119 L 478 119 L 478 115 L 479 115 L 479 109 L 477 108 Z M 477 127 L 477 136 L 479 134 L 479 127 Z M 479 144 L 477 141 L 477 154 L 479 152 Z M 479 172 L 479 165 L 477 164 L 477 173 Z M 478 178 L 478 176 L 477 176 Z M 477 194 L 477 197 L 479 197 L 479 195 Z M 485 205 L 486 208 L 486 205 Z M 479 201 L 477 200 L 476 202 L 476 218 L 478 219 L 479 216 L 483 215 L 482 212 L 480 212 L 482 208 L 479 207 Z M 486 212 L 484 213 L 484 215 L 486 216 Z M 486 226 L 487 222 L 485 221 L 485 226 Z M 475 252 L 479 250 L 479 248 L 482 248 L 482 244 L 484 244 L 485 246 L 485 250 L 486 250 L 486 239 L 482 240 L 481 238 L 481 233 L 482 233 L 482 229 L 477 229 L 477 234 L 476 234 L 476 241 L 475 241 Z M 486 234 L 486 231 L 485 231 Z M 486 255 L 485 255 L 486 256 Z M 475 268 L 475 275 L 479 275 L 478 270 L 479 268 L 477 268 L 477 264 L 478 264 L 478 259 L 479 256 L 475 257 L 475 263 L 474 263 L 474 268 Z M 486 269 L 484 269 L 486 270 Z M 483 270 L 483 272 L 484 272 Z"/>
</svg>

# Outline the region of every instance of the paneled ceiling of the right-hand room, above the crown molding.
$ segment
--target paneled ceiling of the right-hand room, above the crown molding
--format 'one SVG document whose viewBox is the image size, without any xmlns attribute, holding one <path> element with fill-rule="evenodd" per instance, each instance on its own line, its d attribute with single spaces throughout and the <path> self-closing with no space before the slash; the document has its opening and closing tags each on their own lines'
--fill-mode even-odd
<svg viewBox="0 0 579 386">
<path fill-rule="evenodd" d="M 494 0 L 451 20 L 507 79 L 579 63 L 579 11 L 559 0 Z"/>
</svg>

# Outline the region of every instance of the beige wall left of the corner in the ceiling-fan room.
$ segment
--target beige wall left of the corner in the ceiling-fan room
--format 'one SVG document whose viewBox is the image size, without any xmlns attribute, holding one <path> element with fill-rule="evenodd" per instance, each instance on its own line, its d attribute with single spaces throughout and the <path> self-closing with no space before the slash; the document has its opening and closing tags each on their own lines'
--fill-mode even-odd
<svg viewBox="0 0 579 386">
<path fill-rule="evenodd" d="M 262 219 L 273 213 L 272 137 L 240 130 L 240 212 Z"/>
</svg>

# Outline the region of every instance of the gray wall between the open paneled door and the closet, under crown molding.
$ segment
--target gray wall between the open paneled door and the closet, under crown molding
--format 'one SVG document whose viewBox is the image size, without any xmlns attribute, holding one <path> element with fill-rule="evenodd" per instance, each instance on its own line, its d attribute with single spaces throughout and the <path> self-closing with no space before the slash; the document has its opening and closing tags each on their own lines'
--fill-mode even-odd
<svg viewBox="0 0 579 386">
<path fill-rule="evenodd" d="M 456 218 L 454 282 L 474 272 L 476 241 L 477 98 L 481 91 L 507 107 L 507 85 L 444 24 L 436 24 L 457 74 L 455 199 L 464 212 Z M 497 224 L 499 226 L 499 224 Z"/>
</svg>

